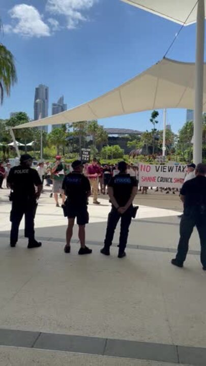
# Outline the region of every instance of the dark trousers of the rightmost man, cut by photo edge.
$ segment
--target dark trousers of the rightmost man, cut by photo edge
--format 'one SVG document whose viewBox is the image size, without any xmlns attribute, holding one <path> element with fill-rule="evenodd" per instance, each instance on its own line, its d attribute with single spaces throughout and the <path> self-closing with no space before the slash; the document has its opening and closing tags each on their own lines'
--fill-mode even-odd
<svg viewBox="0 0 206 366">
<path fill-rule="evenodd" d="M 192 235 L 193 229 L 196 226 L 200 238 L 200 260 L 203 267 L 206 267 L 206 215 L 184 214 L 180 223 L 180 241 L 178 245 L 178 253 L 176 259 L 184 262 L 187 256 L 189 239 Z"/>
</svg>

